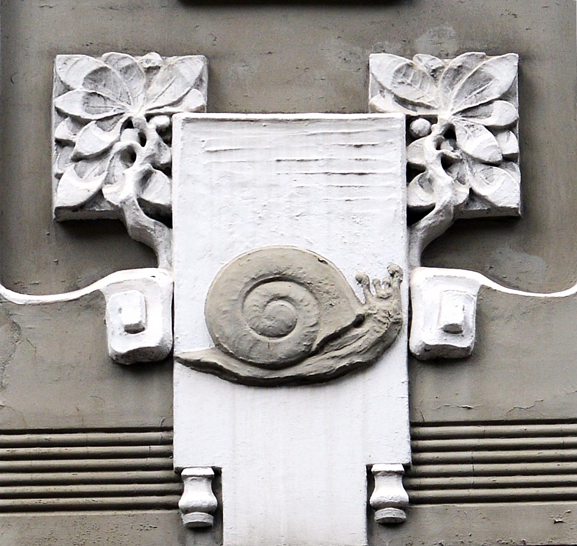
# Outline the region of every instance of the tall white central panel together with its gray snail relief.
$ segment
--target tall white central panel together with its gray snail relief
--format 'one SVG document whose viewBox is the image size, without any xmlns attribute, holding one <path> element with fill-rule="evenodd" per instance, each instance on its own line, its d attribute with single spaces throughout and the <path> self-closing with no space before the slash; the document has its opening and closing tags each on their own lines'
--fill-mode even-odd
<svg viewBox="0 0 577 546">
<path fill-rule="evenodd" d="M 410 463 L 404 132 L 175 117 L 174 464 L 191 491 L 222 472 L 226 546 L 364 545 L 368 468 Z"/>
</svg>

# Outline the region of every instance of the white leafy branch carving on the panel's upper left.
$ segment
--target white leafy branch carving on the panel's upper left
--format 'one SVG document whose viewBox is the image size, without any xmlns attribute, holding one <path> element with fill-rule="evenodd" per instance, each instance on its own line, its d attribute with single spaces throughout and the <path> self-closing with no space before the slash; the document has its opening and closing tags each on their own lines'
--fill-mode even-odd
<svg viewBox="0 0 577 546">
<path fill-rule="evenodd" d="M 204 111 L 206 92 L 202 55 L 58 55 L 55 218 L 120 218 L 170 267 L 171 116 Z"/>
</svg>

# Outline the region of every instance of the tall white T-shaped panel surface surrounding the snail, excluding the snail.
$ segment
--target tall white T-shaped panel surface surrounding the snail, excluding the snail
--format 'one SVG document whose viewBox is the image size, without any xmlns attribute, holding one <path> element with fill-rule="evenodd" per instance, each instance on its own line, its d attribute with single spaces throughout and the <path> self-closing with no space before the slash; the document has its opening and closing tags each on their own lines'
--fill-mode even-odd
<svg viewBox="0 0 577 546">
<path fill-rule="evenodd" d="M 222 469 L 226 546 L 352 546 L 366 537 L 366 468 L 409 464 L 406 316 L 373 365 L 316 385 L 235 384 L 178 362 L 213 343 L 204 303 L 243 252 L 294 245 L 358 271 L 406 272 L 400 115 L 175 119 L 174 464 Z"/>
</svg>

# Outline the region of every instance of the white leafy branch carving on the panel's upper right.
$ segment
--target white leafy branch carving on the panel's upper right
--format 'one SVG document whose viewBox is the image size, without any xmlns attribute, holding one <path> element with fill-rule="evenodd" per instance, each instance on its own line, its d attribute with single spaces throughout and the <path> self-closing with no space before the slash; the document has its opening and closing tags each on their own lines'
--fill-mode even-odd
<svg viewBox="0 0 577 546">
<path fill-rule="evenodd" d="M 370 56 L 372 111 L 407 115 L 410 265 L 456 218 L 518 215 L 518 56 Z"/>
</svg>

